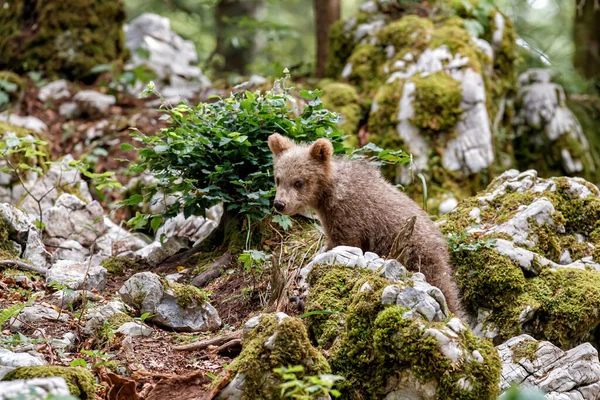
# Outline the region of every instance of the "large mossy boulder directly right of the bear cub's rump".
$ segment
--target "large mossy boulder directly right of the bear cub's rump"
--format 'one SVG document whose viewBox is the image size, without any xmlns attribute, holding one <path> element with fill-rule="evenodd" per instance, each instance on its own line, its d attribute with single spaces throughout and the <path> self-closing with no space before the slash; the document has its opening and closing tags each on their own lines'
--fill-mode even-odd
<svg viewBox="0 0 600 400">
<path fill-rule="evenodd" d="M 562 348 L 597 342 L 600 191 L 581 178 L 510 170 L 445 215 L 453 265 L 475 330 Z"/>
</svg>

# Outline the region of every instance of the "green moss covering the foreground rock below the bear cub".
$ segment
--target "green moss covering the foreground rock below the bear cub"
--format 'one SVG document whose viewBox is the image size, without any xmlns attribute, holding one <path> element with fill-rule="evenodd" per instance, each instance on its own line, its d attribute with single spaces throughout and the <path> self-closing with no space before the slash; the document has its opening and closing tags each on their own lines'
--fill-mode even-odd
<svg viewBox="0 0 600 400">
<path fill-rule="evenodd" d="M 402 371 L 410 371 L 421 383 L 436 382 L 437 398 L 496 398 L 500 360 L 488 341 L 463 332 L 460 341 L 466 351 L 477 349 L 485 362 L 454 363 L 443 356 L 434 337 L 424 334 L 426 328 L 443 324 L 403 318 L 405 308 L 381 304 L 390 283 L 376 272 L 320 265 L 308 281 L 307 310 L 336 311 L 312 315 L 308 325 L 311 336 L 329 349 L 333 373 L 346 378 L 341 384 L 344 398 L 382 398 L 388 380 Z M 365 283 L 370 289 L 361 290 Z M 461 378 L 471 382 L 470 391 L 459 388 Z"/>
</svg>

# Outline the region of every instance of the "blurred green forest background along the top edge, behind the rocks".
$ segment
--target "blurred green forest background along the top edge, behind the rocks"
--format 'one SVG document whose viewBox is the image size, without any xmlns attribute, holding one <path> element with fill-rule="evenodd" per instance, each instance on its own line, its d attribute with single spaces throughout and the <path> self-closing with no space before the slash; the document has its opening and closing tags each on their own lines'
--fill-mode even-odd
<svg viewBox="0 0 600 400">
<path fill-rule="evenodd" d="M 125 0 L 125 7 L 128 20 L 145 12 L 169 18 L 172 29 L 196 45 L 200 63 L 211 77 L 215 72 L 232 70 L 278 76 L 286 67 L 295 70 L 295 75 L 314 71 L 315 7 L 337 7 L 340 18 L 346 18 L 355 14 L 362 3 L 362 0 Z M 590 79 L 599 72 L 600 61 L 592 61 L 586 54 L 592 48 L 598 53 L 600 17 L 593 12 L 595 2 L 498 0 L 495 4 L 515 24 L 519 45 L 538 55 L 522 60 L 520 69 L 552 69 L 557 81 L 571 93 L 594 90 Z M 225 52 L 218 49 L 220 40 L 222 49 L 227 46 L 234 49 L 237 62 L 227 65 Z M 583 53 L 579 58 L 575 57 L 578 48 Z M 576 64 L 581 67 L 576 69 Z"/>
</svg>

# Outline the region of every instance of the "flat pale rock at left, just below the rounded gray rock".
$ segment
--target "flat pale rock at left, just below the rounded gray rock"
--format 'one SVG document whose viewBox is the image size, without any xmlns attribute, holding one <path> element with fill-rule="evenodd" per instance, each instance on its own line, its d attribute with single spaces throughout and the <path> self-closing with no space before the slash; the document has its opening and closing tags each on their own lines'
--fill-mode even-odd
<svg viewBox="0 0 600 400">
<path fill-rule="evenodd" d="M 106 268 L 93 262 L 59 260 L 48 270 L 46 284 L 56 282 L 72 290 L 103 290 L 106 287 Z"/>
</svg>

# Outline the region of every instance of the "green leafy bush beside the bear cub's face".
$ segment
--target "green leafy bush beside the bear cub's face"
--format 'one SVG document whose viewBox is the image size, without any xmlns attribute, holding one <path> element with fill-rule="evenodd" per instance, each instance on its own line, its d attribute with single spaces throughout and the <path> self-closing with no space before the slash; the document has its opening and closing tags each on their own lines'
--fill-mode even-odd
<svg viewBox="0 0 600 400">
<path fill-rule="evenodd" d="M 168 206 L 162 216 L 138 214 L 130 223 L 143 228 L 149 219 L 176 215 L 203 215 L 205 209 L 223 202 L 230 215 L 238 213 L 262 220 L 271 214 L 275 193 L 272 177 L 272 155 L 267 138 L 278 132 L 299 142 L 318 138 L 330 139 L 336 154 L 345 153 L 343 132 L 337 128 L 339 116 L 323 107 L 320 90 L 302 90 L 306 105 L 300 110 L 291 96 L 286 79 L 278 80 L 272 90 L 261 93 L 235 89 L 229 97 L 216 97 L 214 102 L 198 106 L 180 104 L 167 109 L 163 116 L 171 124 L 155 135 L 135 132 L 141 142 L 139 159 L 133 172 L 149 172 L 159 183 L 143 194 L 122 202 L 136 205 L 149 201 L 157 192 L 175 195 L 179 201 Z M 148 86 L 153 92 L 153 85 Z M 124 150 L 133 150 L 123 144 Z M 370 148 L 383 155 L 385 162 L 398 162 L 401 152 Z M 364 156 L 360 154 L 359 156 Z"/>
</svg>

